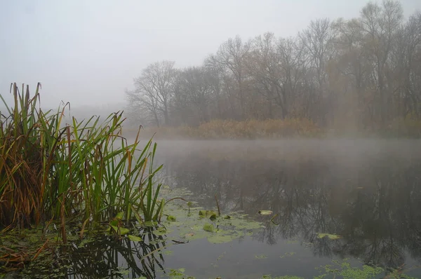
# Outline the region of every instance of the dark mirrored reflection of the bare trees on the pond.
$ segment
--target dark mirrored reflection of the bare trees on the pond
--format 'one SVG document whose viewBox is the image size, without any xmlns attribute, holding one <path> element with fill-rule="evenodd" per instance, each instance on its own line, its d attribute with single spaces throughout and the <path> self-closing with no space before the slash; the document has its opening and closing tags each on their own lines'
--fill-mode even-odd
<svg viewBox="0 0 421 279">
<path fill-rule="evenodd" d="M 298 238 L 316 257 L 358 257 L 397 268 L 421 261 L 421 159 L 390 153 L 291 159 L 203 156 L 161 158 L 168 184 L 187 187 L 222 211 L 273 210 L 278 226 L 256 239 Z M 317 238 L 336 233 L 340 240 Z"/>
</svg>

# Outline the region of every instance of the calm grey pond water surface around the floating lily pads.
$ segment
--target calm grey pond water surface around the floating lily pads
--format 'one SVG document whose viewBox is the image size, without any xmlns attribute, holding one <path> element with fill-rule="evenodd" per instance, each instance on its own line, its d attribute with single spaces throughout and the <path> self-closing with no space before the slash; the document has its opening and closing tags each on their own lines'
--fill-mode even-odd
<svg viewBox="0 0 421 279">
<path fill-rule="evenodd" d="M 189 189 L 206 209 L 215 207 L 216 195 L 222 212 L 243 210 L 261 219 L 259 210 L 272 210 L 277 225 L 225 244 L 199 239 L 174 245 L 154 235 L 157 246 L 102 239 L 77 250 L 76 264 L 69 259 L 69 273 L 76 273 L 70 277 L 101 278 L 129 268 L 121 275 L 159 278 L 163 270 L 185 268 L 196 278 L 312 278 L 316 267 L 345 258 L 354 266 L 419 265 L 420 146 L 410 140 L 159 142 L 169 186 Z M 162 245 L 171 245 L 172 254 L 140 262 Z M 408 274 L 421 278 L 420 268 Z"/>
</svg>

